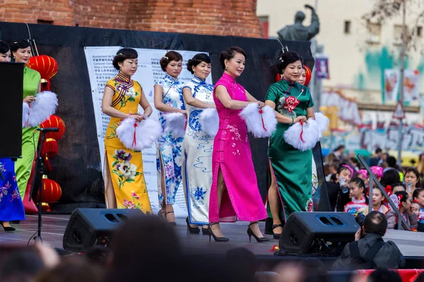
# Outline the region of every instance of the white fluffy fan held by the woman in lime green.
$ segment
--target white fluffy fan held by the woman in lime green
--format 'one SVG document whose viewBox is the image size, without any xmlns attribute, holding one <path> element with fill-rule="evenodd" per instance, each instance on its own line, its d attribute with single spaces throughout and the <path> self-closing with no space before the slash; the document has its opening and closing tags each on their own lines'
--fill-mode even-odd
<svg viewBox="0 0 424 282">
<path fill-rule="evenodd" d="M 57 107 L 57 95 L 50 91 L 43 91 L 35 95 L 35 101 L 30 104 L 28 126 L 37 126 L 46 121 Z"/>
</svg>

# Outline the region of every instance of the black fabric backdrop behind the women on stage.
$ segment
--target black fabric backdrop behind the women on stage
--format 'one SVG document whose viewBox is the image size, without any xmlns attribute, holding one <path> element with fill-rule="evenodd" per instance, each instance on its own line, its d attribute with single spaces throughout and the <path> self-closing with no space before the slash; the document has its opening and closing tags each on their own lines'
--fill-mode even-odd
<svg viewBox="0 0 424 282">
<path fill-rule="evenodd" d="M 83 47 L 122 46 L 145 49 L 206 51 L 212 59 L 212 78 L 216 82 L 220 68 L 220 51 L 238 46 L 247 53 L 246 70 L 237 79 L 257 99 L 264 100 L 266 90 L 275 82 L 272 66 L 281 54 L 276 39 L 189 35 L 133 30 L 107 30 L 90 27 L 29 25 L 40 54 L 57 60 L 59 72 L 52 78 L 52 92 L 59 97 L 57 115 L 66 123 L 66 133 L 59 140 L 59 155 L 51 159 L 54 169 L 49 178 L 56 180 L 63 195 L 54 208 L 71 212 L 76 207 L 103 207 L 104 185 L 100 152 L 96 136 L 93 100 Z M 23 23 L 0 23 L 2 40 L 13 42 L 27 39 Z M 288 49 L 298 51 L 307 66 L 313 66 L 310 42 L 283 42 Z M 257 172 L 259 190 L 266 197 L 266 160 L 268 140 L 249 138 Z"/>
</svg>

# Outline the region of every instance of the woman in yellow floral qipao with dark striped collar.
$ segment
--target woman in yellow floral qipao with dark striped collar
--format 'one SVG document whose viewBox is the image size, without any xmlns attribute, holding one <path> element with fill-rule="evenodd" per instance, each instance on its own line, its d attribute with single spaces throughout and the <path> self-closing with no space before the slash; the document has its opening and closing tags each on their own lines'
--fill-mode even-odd
<svg viewBox="0 0 424 282">
<path fill-rule="evenodd" d="M 119 73 L 107 82 L 103 94 L 102 111 L 111 117 L 105 135 L 105 198 L 109 209 L 141 209 L 151 214 L 142 154 L 124 147 L 116 135 L 124 118 L 131 115 L 141 121 L 152 114 L 141 85 L 131 80 L 131 75 L 137 71 L 138 56 L 131 48 L 117 52 L 113 66 Z M 137 114 L 139 105 L 144 109 L 143 115 Z"/>
</svg>

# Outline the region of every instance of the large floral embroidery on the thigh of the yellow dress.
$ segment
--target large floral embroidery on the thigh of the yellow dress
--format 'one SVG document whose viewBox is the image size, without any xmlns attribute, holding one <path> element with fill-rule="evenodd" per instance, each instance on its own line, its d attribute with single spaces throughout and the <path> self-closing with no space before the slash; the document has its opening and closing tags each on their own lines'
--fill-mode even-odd
<svg viewBox="0 0 424 282">
<path fill-rule="evenodd" d="M 134 178 L 139 176 L 141 173 L 137 171 L 137 166 L 130 163 L 132 155 L 129 152 L 125 152 L 124 149 L 115 150 L 115 154 L 112 157 L 116 160 L 112 163 L 112 173 L 116 174 L 119 179 L 119 189 L 125 185 L 125 183 L 134 182 Z"/>
</svg>

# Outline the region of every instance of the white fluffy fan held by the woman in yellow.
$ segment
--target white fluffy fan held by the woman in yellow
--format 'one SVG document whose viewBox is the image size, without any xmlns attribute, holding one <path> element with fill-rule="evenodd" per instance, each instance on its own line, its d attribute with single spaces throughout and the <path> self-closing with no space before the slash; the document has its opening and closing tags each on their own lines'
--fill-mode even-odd
<svg viewBox="0 0 424 282">
<path fill-rule="evenodd" d="M 137 124 L 134 127 L 134 123 Z M 136 142 L 134 144 L 134 131 Z M 117 128 L 117 136 L 127 149 L 141 151 L 151 147 L 162 134 L 162 127 L 153 118 L 136 122 L 135 118 L 125 118 Z"/>
</svg>

